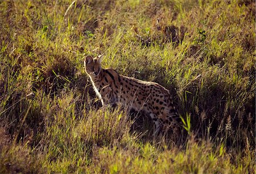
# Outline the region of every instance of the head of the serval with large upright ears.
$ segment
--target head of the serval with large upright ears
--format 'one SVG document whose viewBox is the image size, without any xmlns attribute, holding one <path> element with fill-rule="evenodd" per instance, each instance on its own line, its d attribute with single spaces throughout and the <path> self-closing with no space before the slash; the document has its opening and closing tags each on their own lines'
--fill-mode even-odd
<svg viewBox="0 0 256 174">
<path fill-rule="evenodd" d="M 96 77 L 101 72 L 101 60 L 102 55 L 93 58 L 92 56 L 86 56 L 84 59 L 85 72 L 91 76 Z"/>
</svg>

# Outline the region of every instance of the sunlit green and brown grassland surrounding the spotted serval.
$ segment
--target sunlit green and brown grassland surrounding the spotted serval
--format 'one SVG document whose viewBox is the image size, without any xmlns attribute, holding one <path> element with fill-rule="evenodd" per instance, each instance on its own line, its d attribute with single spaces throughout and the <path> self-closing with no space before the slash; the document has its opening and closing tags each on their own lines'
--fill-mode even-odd
<svg viewBox="0 0 256 174">
<path fill-rule="evenodd" d="M 0 173 L 255 173 L 255 1 L 0 1 Z M 170 90 L 183 139 L 98 109 L 83 67 Z"/>
</svg>

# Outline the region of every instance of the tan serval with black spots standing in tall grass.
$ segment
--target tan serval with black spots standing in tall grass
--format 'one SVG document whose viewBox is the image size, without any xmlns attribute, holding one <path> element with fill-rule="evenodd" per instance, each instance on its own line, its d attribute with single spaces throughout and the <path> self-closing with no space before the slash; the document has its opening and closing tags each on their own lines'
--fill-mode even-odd
<svg viewBox="0 0 256 174">
<path fill-rule="evenodd" d="M 121 103 L 137 111 L 150 115 L 156 125 L 160 126 L 179 122 L 170 92 L 155 82 L 147 82 L 136 78 L 122 76 L 114 69 L 101 68 L 102 56 L 87 56 L 84 61 L 86 73 L 92 81 L 102 105 Z"/>
</svg>

